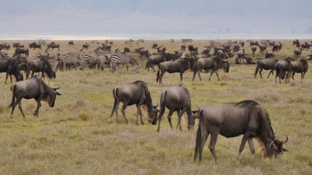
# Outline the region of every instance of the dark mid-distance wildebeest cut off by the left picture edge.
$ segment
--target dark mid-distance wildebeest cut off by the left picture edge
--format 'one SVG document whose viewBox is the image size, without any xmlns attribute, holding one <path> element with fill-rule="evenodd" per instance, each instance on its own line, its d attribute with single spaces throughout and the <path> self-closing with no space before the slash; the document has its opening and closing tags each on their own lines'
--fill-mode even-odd
<svg viewBox="0 0 312 175">
<path fill-rule="evenodd" d="M 1 72 L 6 72 L 6 84 L 9 75 L 12 83 L 12 74 L 15 76 L 16 81 L 23 80 L 23 74 L 20 71 L 18 62 L 13 58 L 0 59 L 0 73 Z"/>
</svg>

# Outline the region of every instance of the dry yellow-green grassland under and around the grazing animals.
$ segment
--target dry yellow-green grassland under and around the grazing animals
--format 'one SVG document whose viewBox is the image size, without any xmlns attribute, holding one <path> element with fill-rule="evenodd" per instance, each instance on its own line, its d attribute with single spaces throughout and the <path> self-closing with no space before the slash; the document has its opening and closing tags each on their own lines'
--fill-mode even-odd
<svg viewBox="0 0 312 175">
<path fill-rule="evenodd" d="M 61 52 L 77 51 L 85 41 L 75 41 L 75 46 L 59 41 Z M 153 41 L 145 41 L 141 46 L 150 49 Z M 165 44 L 168 52 L 180 49 L 180 41 L 157 41 Z M 291 41 L 281 41 L 285 46 L 276 55 L 278 58 L 292 56 L 294 46 Z M 302 42 L 302 41 L 301 41 Z M 13 43 L 13 41 L 8 41 Z M 21 41 L 28 44 L 30 41 Z M 195 41 L 202 50 L 208 41 Z M 92 50 L 96 44 L 92 44 Z M 113 49 L 123 49 L 122 41 L 115 41 Z M 138 47 L 133 44 L 131 49 Z M 44 47 L 45 48 L 45 47 Z M 248 43 L 247 54 L 251 55 Z M 31 50 L 33 56 L 37 51 Z M 155 50 L 153 50 L 155 52 Z M 258 54 L 256 57 L 262 57 Z M 13 50 L 9 51 L 9 55 Z M 310 54 L 304 51 L 302 56 Z M 11 84 L 5 85 L 5 73 L 0 74 L 0 174 L 312 174 L 312 64 L 303 81 L 298 74 L 289 84 L 275 84 L 269 79 L 255 79 L 255 65 L 235 65 L 230 58 L 229 73 L 220 71 L 221 81 L 215 75 L 208 81 L 203 74 L 202 81 L 192 72 L 184 74 L 183 84 L 187 85 L 196 106 L 222 102 L 239 102 L 250 99 L 264 106 L 270 115 L 272 127 L 277 137 L 289 137 L 285 152 L 277 159 L 265 158 L 256 143 L 256 154 L 252 155 L 246 145 L 242 161 L 237 159 L 242 137 L 226 139 L 218 137 L 216 153 L 219 158 L 214 163 L 207 144 L 203 161 L 193 163 L 195 130 L 187 131 L 183 119 L 183 131 L 171 130 L 167 119 L 162 122 L 161 132 L 157 126 L 145 122 L 136 126 L 134 106 L 127 108 L 130 125 L 116 124 L 115 116 L 109 118 L 113 106 L 112 89 L 122 83 L 143 80 L 147 83 L 154 104 L 159 103 L 160 92 L 169 85 L 180 84 L 179 74 L 166 73 L 164 85 L 155 82 L 155 72 L 144 69 L 145 60 L 138 59 L 140 73 L 129 73 L 123 69 L 112 74 L 108 69 L 57 72 L 57 78 L 46 82 L 50 86 L 60 85 L 55 107 L 43 104 L 40 117 L 32 113 L 36 108 L 34 100 L 23 100 L 23 120 L 19 110 L 9 119 Z M 266 76 L 268 71 L 263 71 Z M 265 77 L 264 76 L 264 77 Z M 168 112 L 168 111 L 167 111 Z M 167 114 L 166 112 L 166 114 Z M 165 114 L 165 115 L 166 115 Z M 122 119 L 121 117 L 119 119 Z M 177 123 L 176 114 L 173 123 Z M 209 138 L 208 138 L 209 139 Z"/>
</svg>

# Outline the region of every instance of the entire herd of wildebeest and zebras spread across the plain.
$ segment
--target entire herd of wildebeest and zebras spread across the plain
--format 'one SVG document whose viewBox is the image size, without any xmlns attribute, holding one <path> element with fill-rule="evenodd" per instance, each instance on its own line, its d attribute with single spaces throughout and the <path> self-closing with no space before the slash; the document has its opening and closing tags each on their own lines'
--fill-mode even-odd
<svg viewBox="0 0 312 175">
<path fill-rule="evenodd" d="M 128 40 L 124 44 L 131 43 L 143 43 L 144 40 Z M 175 40 L 171 40 L 174 43 Z M 196 74 L 201 79 L 200 73 L 210 72 L 210 77 L 213 73 L 216 73 L 218 80 L 218 70 L 223 69 L 224 72 L 229 72 L 230 63 L 227 58 L 234 57 L 236 64 L 255 64 L 256 70 L 254 77 L 260 74 L 262 78 L 262 71 L 269 70 L 269 74 L 273 74 L 275 70 L 275 83 L 277 77 L 281 83 L 281 79 L 285 79 L 285 82 L 290 81 L 290 77 L 294 79 L 295 73 L 301 73 L 301 79 L 304 78 L 305 73 L 308 70 L 307 60 L 311 59 L 311 55 L 306 58 L 299 59 L 302 50 L 308 50 L 311 46 L 307 42 L 304 44 L 299 43 L 298 40 L 293 41 L 295 46 L 294 57 L 285 57 L 283 59 L 277 59 L 274 56 L 274 52 L 282 50 L 283 44 L 271 40 L 253 41 L 248 40 L 250 43 L 250 49 L 252 51 L 252 57 L 255 57 L 257 48 L 259 47 L 260 53 L 265 58 L 251 58 L 246 56 L 245 49 L 249 46 L 245 45 L 244 41 L 227 41 L 220 43 L 219 41 L 210 41 L 207 46 L 204 47 L 201 53 L 198 53 L 198 48 L 194 44 L 187 43 L 194 41 L 192 39 L 182 39 L 181 49 L 177 49 L 174 53 L 167 53 L 167 47 L 164 44 L 158 44 L 154 42 L 151 46 L 152 49 L 156 49 L 157 53 L 150 53 L 147 48 L 139 47 L 130 50 L 128 47 L 121 52 L 119 49 L 112 51 L 112 41 L 105 41 L 104 43 L 97 43 L 98 48 L 87 52 L 89 44 L 84 43 L 82 49 L 77 52 L 60 53 L 60 44 L 51 42 L 47 44 L 47 48 L 44 52 L 39 52 L 35 57 L 29 58 L 29 49 L 42 49 L 41 44 L 33 42 L 29 44 L 29 48 L 25 48 L 24 44 L 14 43 L 13 48 L 15 52 L 13 57 L 8 57 L 8 54 L 1 52 L 0 54 L 0 72 L 6 72 L 6 80 L 10 76 L 12 83 L 12 75 L 18 81 L 11 86 L 12 102 L 9 105 L 12 108 L 11 118 L 16 106 L 19 106 L 19 110 L 25 118 L 25 114 L 22 109 L 21 100 L 35 99 L 37 102 L 37 109 L 34 112 L 34 116 L 39 117 L 39 109 L 41 107 L 41 101 L 46 101 L 50 107 L 55 105 L 57 96 L 61 94 L 56 90 L 58 88 L 51 88 L 45 83 L 44 78 L 47 75 L 48 78 L 56 78 L 56 71 L 65 71 L 70 69 L 76 69 L 79 67 L 81 70 L 85 68 L 104 70 L 105 67 L 110 68 L 112 72 L 122 69 L 125 65 L 128 71 L 128 65 L 130 64 L 134 71 L 139 73 L 139 64 L 131 54 L 138 54 L 141 60 L 145 60 L 145 69 L 149 71 L 152 68 L 155 72 L 154 66 L 158 66 L 158 71 L 155 73 L 155 80 L 160 84 L 163 84 L 163 77 L 165 72 L 180 73 L 180 81 L 183 80 L 183 73 L 191 70 L 193 71 L 193 78 L 195 80 Z M 68 45 L 73 46 L 73 41 L 68 41 Z M 160 46 L 159 46 L 160 45 Z M 11 46 L 7 43 L 0 45 L 1 49 L 10 49 Z M 52 51 L 57 48 L 57 51 Z M 188 52 L 185 49 L 188 48 Z M 272 50 L 269 50 L 272 48 Z M 179 51 L 178 51 L 179 50 Z M 210 53 L 210 51 L 212 51 Z M 24 54 L 24 55 L 22 55 Z M 24 73 L 25 72 L 25 78 Z M 35 73 L 41 72 L 41 77 L 35 75 Z M 30 75 L 31 74 L 31 75 Z M 42 79 L 43 78 L 43 79 Z M 24 80 L 25 79 L 25 80 Z M 243 135 L 241 146 L 239 148 L 239 154 L 243 151 L 246 142 L 249 143 L 251 153 L 255 153 L 253 138 L 257 138 L 263 144 L 266 156 L 276 157 L 287 151 L 283 148 L 283 144 L 288 141 L 282 141 L 276 138 L 268 112 L 255 101 L 245 100 L 238 103 L 221 103 L 216 105 L 210 105 L 205 108 L 198 108 L 197 110 L 191 109 L 191 96 L 186 85 L 174 85 L 165 88 L 160 95 L 160 106 L 154 106 L 151 100 L 150 91 L 147 84 L 144 81 L 137 80 L 130 83 L 125 83 L 116 86 L 113 89 L 114 104 L 110 117 L 116 114 L 118 120 L 119 104 L 122 102 L 121 113 L 125 121 L 129 124 L 129 120 L 126 117 L 127 106 L 136 105 L 136 124 L 138 125 L 138 116 L 140 116 L 140 123 L 144 124 L 142 120 L 141 106 L 147 111 L 148 122 L 152 125 L 158 123 L 157 131 L 160 131 L 160 124 L 162 117 L 165 113 L 165 109 L 169 110 L 168 121 L 170 127 L 173 128 L 171 117 L 174 112 L 178 115 L 178 124 L 176 128 L 182 130 L 181 118 L 183 114 L 187 116 L 188 129 L 192 129 L 195 125 L 195 121 L 199 121 L 198 130 L 196 133 L 195 141 L 195 155 L 194 161 L 196 161 L 199 155 L 199 160 L 202 158 L 202 151 L 207 137 L 210 135 L 209 150 L 213 155 L 215 161 L 217 156 L 215 152 L 215 144 L 218 134 L 224 137 L 237 137 Z"/>
</svg>

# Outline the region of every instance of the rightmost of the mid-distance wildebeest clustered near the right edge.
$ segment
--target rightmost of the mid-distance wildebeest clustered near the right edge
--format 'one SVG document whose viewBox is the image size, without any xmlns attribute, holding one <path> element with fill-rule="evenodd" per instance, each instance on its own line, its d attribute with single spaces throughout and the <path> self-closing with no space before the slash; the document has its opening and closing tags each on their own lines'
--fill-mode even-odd
<svg viewBox="0 0 312 175">
<path fill-rule="evenodd" d="M 288 82 L 291 78 L 294 80 L 293 76 L 295 73 L 301 73 L 301 80 L 303 80 L 304 75 L 309 68 L 306 59 L 300 59 L 299 61 L 294 61 L 290 63 L 290 70 L 288 71 Z"/>
</svg>

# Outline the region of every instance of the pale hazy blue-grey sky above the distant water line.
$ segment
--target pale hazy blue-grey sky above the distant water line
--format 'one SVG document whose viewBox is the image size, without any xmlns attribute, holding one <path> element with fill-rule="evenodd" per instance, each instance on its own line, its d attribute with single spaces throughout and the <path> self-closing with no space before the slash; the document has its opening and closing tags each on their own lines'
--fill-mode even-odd
<svg viewBox="0 0 312 175">
<path fill-rule="evenodd" d="M 312 1 L 1 1 L 1 34 L 312 33 Z"/>
</svg>

